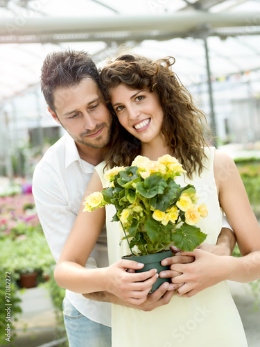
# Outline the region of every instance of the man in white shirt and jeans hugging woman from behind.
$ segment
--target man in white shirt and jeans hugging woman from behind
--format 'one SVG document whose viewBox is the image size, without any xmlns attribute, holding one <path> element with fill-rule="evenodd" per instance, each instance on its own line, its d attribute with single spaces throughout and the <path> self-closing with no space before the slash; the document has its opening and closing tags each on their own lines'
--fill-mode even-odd
<svg viewBox="0 0 260 347">
<path fill-rule="evenodd" d="M 44 60 L 41 82 L 51 116 L 67 130 L 45 153 L 33 176 L 37 212 L 57 261 L 94 166 L 103 160 L 112 132 L 112 117 L 103 103 L 96 66 L 83 51 L 49 54 Z M 218 239 L 213 251 L 229 254 L 230 249 L 232 246 Z M 190 262 L 191 259 L 179 256 L 172 262 L 176 261 Z M 108 266 L 104 228 L 86 264 L 89 269 L 96 266 Z M 153 310 L 165 305 L 174 293 L 168 289 L 173 288 L 164 283 L 138 308 Z M 111 346 L 110 303 L 130 305 L 113 290 L 84 295 L 66 291 L 64 323 L 71 347 Z"/>
</svg>

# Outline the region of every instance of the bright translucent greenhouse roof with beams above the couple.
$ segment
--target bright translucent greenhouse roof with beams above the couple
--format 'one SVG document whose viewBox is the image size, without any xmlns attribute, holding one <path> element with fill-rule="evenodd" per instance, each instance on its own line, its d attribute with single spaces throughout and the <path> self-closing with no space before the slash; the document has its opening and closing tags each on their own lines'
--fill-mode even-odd
<svg viewBox="0 0 260 347">
<path fill-rule="evenodd" d="M 0 101 L 40 81 L 47 53 L 83 49 L 100 65 L 121 44 L 174 56 L 184 84 L 260 69 L 260 1 L 0 0 Z"/>
</svg>

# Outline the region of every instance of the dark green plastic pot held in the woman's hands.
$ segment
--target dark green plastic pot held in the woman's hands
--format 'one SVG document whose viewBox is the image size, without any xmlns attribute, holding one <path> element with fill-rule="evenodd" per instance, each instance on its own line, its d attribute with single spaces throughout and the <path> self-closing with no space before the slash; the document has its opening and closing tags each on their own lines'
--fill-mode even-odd
<svg viewBox="0 0 260 347">
<path fill-rule="evenodd" d="M 157 273 L 170 269 L 170 266 L 162 266 L 161 261 L 165 258 L 171 257 L 172 253 L 171 250 L 169 251 L 162 251 L 160 253 L 155 254 L 148 254 L 148 255 L 139 255 L 138 256 L 129 256 L 126 255 L 125 257 L 122 257 L 122 259 L 126 260 L 135 260 L 135 262 L 141 262 L 144 264 L 143 269 L 135 270 L 135 272 L 145 272 L 149 271 L 150 269 L 157 269 Z M 164 282 L 171 283 L 171 278 L 157 278 L 157 281 L 153 284 L 153 287 L 150 291 L 150 293 L 153 293 L 156 289 L 159 288 L 160 285 Z"/>
</svg>

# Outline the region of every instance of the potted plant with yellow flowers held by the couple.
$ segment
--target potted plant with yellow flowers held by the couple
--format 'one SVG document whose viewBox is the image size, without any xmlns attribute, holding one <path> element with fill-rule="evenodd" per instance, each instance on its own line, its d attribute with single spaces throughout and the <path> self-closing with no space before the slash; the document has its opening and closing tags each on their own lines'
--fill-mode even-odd
<svg viewBox="0 0 260 347">
<path fill-rule="evenodd" d="M 159 255 L 155 261 L 159 263 L 158 272 L 162 271 L 167 267 L 160 262 L 171 256 L 171 251 L 165 251 L 171 244 L 182 251 L 193 251 L 207 237 L 195 225 L 200 218 L 207 217 L 207 206 L 198 205 L 193 185 L 180 187 L 175 182 L 184 172 L 171 155 L 157 161 L 138 155 L 130 167 L 114 167 L 105 172 L 111 186 L 87 196 L 84 211 L 114 205 L 116 213 L 112 221 L 121 223 L 123 239 L 128 242 L 132 257 L 145 263 L 147 258 L 150 262 L 151 257 Z M 133 260 L 132 257 L 125 259 Z M 141 271 L 153 268 L 152 260 Z M 168 279 L 158 278 L 152 291 L 165 280 Z"/>
</svg>

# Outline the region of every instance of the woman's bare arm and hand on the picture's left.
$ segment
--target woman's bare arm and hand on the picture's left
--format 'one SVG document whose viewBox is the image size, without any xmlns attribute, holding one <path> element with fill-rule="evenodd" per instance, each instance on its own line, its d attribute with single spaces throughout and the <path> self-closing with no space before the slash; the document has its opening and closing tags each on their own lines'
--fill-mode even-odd
<svg viewBox="0 0 260 347">
<path fill-rule="evenodd" d="M 83 201 L 85 196 L 102 189 L 101 180 L 98 174 L 94 173 Z M 141 269 L 144 266 L 129 260 L 120 260 L 106 268 L 85 269 L 104 223 L 105 208 L 92 212 L 83 212 L 83 207 L 80 208 L 55 267 L 55 280 L 60 287 L 76 293 L 109 291 L 125 301 L 140 304 L 146 300 L 157 278 L 154 269 L 144 273 L 128 273 L 125 269 Z"/>
</svg>

